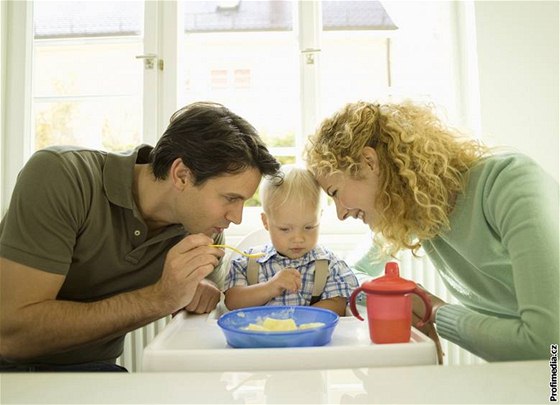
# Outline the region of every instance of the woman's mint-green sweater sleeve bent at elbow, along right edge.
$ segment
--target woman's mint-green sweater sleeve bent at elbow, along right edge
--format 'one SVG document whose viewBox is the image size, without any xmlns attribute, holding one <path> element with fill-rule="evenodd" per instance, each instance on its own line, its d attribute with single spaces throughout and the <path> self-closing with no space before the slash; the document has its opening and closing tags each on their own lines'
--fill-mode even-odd
<svg viewBox="0 0 560 405">
<path fill-rule="evenodd" d="M 516 316 L 459 305 L 436 315 L 438 333 L 488 361 L 544 359 L 558 343 L 558 184 L 529 159 L 492 169 L 484 217 L 511 260 Z"/>
</svg>

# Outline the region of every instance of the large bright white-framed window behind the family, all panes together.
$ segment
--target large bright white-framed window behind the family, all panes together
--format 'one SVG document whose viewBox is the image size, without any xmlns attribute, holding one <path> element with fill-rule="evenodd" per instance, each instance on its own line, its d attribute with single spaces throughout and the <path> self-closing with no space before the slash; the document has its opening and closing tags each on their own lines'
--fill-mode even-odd
<svg viewBox="0 0 560 405">
<path fill-rule="evenodd" d="M 453 2 L 30 4 L 32 124 L 15 146 L 23 161 L 55 143 L 153 144 L 171 113 L 196 100 L 245 117 L 283 163 L 299 162 L 307 136 L 349 101 L 406 95 L 461 111 Z"/>
</svg>

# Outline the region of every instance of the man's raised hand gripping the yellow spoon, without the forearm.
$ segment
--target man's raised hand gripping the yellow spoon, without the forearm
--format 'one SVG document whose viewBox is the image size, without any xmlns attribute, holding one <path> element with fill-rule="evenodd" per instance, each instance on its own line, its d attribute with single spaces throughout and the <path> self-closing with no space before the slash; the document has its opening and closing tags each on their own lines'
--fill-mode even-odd
<svg viewBox="0 0 560 405">
<path fill-rule="evenodd" d="M 201 299 L 208 299 L 202 298 L 207 297 L 207 286 L 198 291 L 200 282 L 214 270 L 224 255 L 223 250 L 210 247 L 212 243 L 213 240 L 204 234 L 189 235 L 167 253 L 161 278 L 155 288 L 162 303 L 168 305 L 168 313 L 191 308 L 191 303 L 198 310 L 201 306 L 206 308 L 212 304 L 210 300 L 199 305 Z M 210 294 L 214 299 L 216 291 Z M 195 297 L 197 301 L 194 301 Z"/>
</svg>

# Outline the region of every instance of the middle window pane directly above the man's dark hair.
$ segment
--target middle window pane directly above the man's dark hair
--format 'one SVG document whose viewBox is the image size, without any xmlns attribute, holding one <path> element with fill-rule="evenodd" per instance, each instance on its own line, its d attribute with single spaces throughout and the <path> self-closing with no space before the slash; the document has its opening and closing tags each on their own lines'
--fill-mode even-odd
<svg viewBox="0 0 560 405">
<path fill-rule="evenodd" d="M 185 1 L 180 103 L 222 103 L 253 124 L 268 146 L 293 148 L 300 116 L 293 6 Z"/>
</svg>

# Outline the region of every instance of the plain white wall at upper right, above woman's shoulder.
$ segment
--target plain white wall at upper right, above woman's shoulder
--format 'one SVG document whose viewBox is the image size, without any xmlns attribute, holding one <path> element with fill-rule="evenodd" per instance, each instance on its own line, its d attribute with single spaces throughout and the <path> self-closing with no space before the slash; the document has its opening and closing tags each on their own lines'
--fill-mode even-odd
<svg viewBox="0 0 560 405">
<path fill-rule="evenodd" d="M 558 2 L 476 1 L 482 139 L 558 181 Z"/>
</svg>

